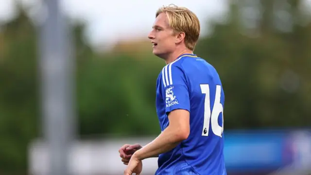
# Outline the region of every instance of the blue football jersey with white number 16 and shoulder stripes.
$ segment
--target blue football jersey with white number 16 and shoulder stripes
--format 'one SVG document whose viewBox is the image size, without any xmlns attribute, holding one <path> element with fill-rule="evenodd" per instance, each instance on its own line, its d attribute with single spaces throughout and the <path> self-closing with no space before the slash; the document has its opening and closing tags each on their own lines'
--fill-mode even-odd
<svg viewBox="0 0 311 175">
<path fill-rule="evenodd" d="M 156 82 L 156 112 L 161 130 L 174 109 L 190 112 L 190 135 L 158 157 L 156 175 L 226 175 L 224 102 L 220 77 L 195 54 L 182 54 L 166 65 Z"/>
</svg>

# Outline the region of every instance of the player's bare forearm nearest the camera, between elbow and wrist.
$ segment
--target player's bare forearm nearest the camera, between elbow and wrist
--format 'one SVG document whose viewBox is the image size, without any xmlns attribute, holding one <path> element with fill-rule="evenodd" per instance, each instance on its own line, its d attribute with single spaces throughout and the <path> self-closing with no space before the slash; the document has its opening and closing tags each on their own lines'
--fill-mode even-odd
<svg viewBox="0 0 311 175">
<path fill-rule="evenodd" d="M 158 157 L 159 154 L 172 150 L 182 140 L 178 131 L 167 127 L 155 140 L 139 149 L 133 156 L 140 160 L 149 157 Z"/>
</svg>

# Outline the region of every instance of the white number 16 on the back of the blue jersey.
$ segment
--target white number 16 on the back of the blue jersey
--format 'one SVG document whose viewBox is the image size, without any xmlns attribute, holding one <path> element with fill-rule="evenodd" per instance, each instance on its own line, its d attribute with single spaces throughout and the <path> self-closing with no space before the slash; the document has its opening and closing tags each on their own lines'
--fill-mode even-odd
<svg viewBox="0 0 311 175">
<path fill-rule="evenodd" d="M 209 86 L 200 85 L 201 92 L 205 94 L 204 102 L 204 124 L 202 130 L 202 136 L 208 136 L 209 131 L 209 120 L 211 121 L 212 131 L 216 136 L 222 137 L 224 131 L 224 107 L 220 103 L 221 86 L 216 86 L 215 102 L 212 112 L 210 112 L 210 98 L 209 98 Z M 218 116 L 223 113 L 223 124 L 220 126 L 218 124 Z"/>
</svg>

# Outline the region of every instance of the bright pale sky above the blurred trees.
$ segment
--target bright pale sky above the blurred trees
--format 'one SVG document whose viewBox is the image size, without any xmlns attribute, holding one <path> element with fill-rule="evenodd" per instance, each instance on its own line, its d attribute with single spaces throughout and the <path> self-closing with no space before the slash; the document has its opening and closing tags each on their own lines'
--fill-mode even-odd
<svg viewBox="0 0 311 175">
<path fill-rule="evenodd" d="M 38 9 L 39 0 L 17 0 Z M 146 37 L 155 20 L 155 11 L 174 3 L 190 8 L 207 29 L 209 18 L 219 18 L 227 11 L 227 0 L 61 0 L 65 13 L 87 22 L 86 36 L 92 44 L 111 43 L 120 39 Z M 14 17 L 14 0 L 0 0 L 0 20 Z"/>
</svg>

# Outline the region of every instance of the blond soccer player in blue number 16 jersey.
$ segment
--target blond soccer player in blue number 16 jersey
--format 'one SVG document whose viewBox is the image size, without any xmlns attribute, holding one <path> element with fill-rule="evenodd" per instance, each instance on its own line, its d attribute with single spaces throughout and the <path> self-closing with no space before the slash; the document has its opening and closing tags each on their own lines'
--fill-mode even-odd
<svg viewBox="0 0 311 175">
<path fill-rule="evenodd" d="M 124 175 L 139 175 L 149 157 L 158 157 L 155 175 L 226 175 L 224 90 L 215 68 L 193 53 L 199 34 L 199 20 L 189 9 L 169 5 L 156 12 L 148 37 L 167 64 L 156 81 L 162 132 L 143 147 L 120 148 Z"/>
</svg>

